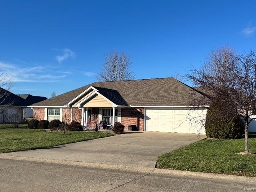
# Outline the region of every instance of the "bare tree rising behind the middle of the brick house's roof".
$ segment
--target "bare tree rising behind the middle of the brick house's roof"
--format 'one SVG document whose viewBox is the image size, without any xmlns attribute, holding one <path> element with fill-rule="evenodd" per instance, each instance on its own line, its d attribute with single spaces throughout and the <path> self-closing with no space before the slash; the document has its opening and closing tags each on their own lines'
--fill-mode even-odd
<svg viewBox="0 0 256 192">
<path fill-rule="evenodd" d="M 103 69 L 97 80 L 118 81 L 133 79 L 134 73 L 130 71 L 130 67 L 130 56 L 125 53 L 119 54 L 118 51 L 112 51 L 106 55 Z"/>
</svg>

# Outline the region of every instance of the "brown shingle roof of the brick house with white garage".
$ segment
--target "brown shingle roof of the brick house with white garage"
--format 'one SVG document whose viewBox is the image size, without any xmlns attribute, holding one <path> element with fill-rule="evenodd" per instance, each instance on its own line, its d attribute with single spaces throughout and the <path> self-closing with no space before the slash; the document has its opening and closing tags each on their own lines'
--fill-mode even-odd
<svg viewBox="0 0 256 192">
<path fill-rule="evenodd" d="M 95 82 L 32 106 L 64 106 L 90 86 L 117 105 L 190 106 L 192 93 L 193 96 L 202 96 L 194 88 L 174 78 L 155 78 Z"/>
</svg>

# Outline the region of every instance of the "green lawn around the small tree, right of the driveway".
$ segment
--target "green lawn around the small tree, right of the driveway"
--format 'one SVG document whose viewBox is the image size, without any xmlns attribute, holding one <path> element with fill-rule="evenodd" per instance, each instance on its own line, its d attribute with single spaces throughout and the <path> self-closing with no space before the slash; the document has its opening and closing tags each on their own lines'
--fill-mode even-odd
<svg viewBox="0 0 256 192">
<path fill-rule="evenodd" d="M 256 135 L 250 135 L 249 150 L 256 153 Z M 256 176 L 256 155 L 238 155 L 244 139 L 205 139 L 157 159 L 157 168 Z"/>
</svg>

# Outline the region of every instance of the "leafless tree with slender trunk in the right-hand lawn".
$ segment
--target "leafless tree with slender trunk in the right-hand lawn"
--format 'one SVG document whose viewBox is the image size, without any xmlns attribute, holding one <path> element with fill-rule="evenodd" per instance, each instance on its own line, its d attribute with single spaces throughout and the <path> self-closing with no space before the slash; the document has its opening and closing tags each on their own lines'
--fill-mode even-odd
<svg viewBox="0 0 256 192">
<path fill-rule="evenodd" d="M 244 122 L 245 147 L 248 154 L 248 126 L 256 114 L 256 53 L 237 55 L 228 47 L 212 51 L 201 69 L 192 68 L 186 77 L 199 86 L 211 100 L 221 98 Z M 199 101 L 194 101 L 198 105 Z"/>
</svg>

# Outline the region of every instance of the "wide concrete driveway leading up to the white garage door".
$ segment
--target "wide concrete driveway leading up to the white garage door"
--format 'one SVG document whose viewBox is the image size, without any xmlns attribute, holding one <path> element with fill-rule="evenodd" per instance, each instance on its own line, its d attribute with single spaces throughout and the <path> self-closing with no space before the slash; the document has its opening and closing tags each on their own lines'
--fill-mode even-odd
<svg viewBox="0 0 256 192">
<path fill-rule="evenodd" d="M 162 153 L 178 149 L 206 138 L 188 133 L 137 132 L 90 141 L 82 141 L 30 151 L 4 153 L 34 159 L 51 159 L 110 165 L 154 168 L 156 158 Z"/>
</svg>

